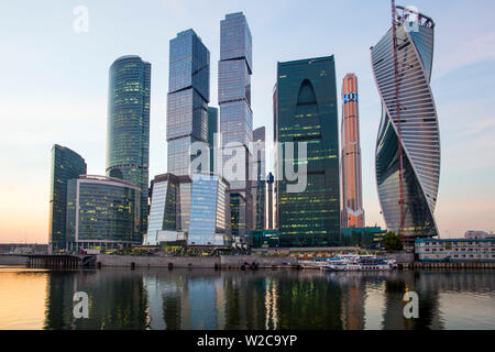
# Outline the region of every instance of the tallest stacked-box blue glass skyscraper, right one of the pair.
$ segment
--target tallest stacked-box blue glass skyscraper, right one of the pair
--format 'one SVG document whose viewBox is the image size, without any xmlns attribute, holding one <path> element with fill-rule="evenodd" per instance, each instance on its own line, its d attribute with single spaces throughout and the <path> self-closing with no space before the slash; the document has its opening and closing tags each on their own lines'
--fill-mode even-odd
<svg viewBox="0 0 495 352">
<path fill-rule="evenodd" d="M 253 70 L 252 37 L 248 21 L 242 12 L 227 14 L 220 22 L 220 62 L 218 65 L 218 101 L 220 106 L 220 132 L 222 139 L 222 175 L 230 183 L 237 219 L 232 231 L 240 237 L 253 229 L 250 186 L 250 142 L 253 139 L 253 112 L 251 110 L 251 75 Z M 237 144 L 234 146 L 232 143 Z M 237 165 L 228 169 L 226 162 L 235 154 Z M 242 155 L 242 157 L 240 157 Z M 243 161 L 242 161 L 243 160 Z M 232 201 L 231 201 L 232 202 Z"/>
</svg>

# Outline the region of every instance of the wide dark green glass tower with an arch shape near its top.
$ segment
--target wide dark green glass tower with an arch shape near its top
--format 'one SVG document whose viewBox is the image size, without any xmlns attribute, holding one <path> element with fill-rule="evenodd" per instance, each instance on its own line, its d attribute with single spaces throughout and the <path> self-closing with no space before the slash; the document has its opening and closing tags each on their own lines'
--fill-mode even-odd
<svg viewBox="0 0 495 352">
<path fill-rule="evenodd" d="M 285 152 L 276 163 L 307 164 L 307 186 L 288 193 L 276 175 L 276 217 L 280 246 L 337 245 L 340 232 L 339 129 L 333 56 L 278 63 L 274 95 L 274 140 L 307 143 L 307 160 Z M 278 164 L 275 170 L 278 169 Z"/>
</svg>

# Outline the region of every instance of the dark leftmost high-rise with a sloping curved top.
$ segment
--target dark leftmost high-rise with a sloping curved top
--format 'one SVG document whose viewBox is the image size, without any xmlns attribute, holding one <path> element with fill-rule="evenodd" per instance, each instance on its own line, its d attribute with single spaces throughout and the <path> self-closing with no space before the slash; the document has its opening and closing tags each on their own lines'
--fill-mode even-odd
<svg viewBox="0 0 495 352">
<path fill-rule="evenodd" d="M 85 160 L 68 147 L 55 144 L 52 147 L 52 170 L 50 187 L 50 251 L 67 248 L 66 213 L 67 213 L 67 183 L 85 175 L 87 165 Z"/>
</svg>

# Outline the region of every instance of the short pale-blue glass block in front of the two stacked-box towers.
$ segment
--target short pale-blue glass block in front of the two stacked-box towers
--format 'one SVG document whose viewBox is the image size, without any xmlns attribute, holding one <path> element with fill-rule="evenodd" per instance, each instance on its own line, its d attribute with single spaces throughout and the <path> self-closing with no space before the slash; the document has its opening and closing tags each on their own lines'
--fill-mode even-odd
<svg viewBox="0 0 495 352">
<path fill-rule="evenodd" d="M 216 175 L 193 176 L 193 201 L 187 243 L 224 245 L 230 239 L 229 185 Z"/>
</svg>

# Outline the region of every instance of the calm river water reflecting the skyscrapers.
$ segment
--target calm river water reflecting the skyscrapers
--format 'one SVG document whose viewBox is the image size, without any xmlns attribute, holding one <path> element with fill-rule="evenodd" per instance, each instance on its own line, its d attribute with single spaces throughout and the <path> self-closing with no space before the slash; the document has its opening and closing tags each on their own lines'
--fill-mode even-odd
<svg viewBox="0 0 495 352">
<path fill-rule="evenodd" d="M 404 317 L 404 294 L 419 317 Z M 75 318 L 74 294 L 88 295 Z M 495 271 L 0 266 L 0 329 L 495 329 Z"/>
</svg>

